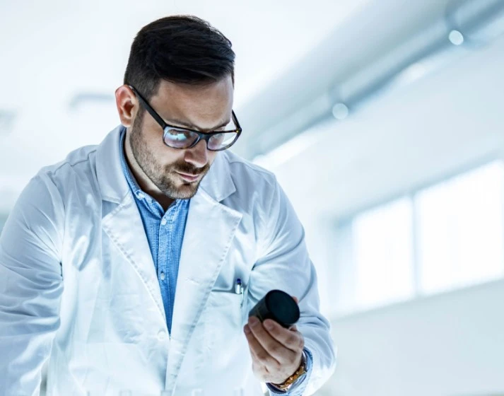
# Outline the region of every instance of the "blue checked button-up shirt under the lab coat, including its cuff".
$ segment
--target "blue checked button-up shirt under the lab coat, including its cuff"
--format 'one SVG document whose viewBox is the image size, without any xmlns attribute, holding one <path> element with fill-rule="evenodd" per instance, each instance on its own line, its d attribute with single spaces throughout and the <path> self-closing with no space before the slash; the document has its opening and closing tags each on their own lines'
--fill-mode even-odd
<svg viewBox="0 0 504 396">
<path fill-rule="evenodd" d="M 171 334 L 173 303 L 175 302 L 175 287 L 177 286 L 177 276 L 180 263 L 180 251 L 182 250 L 182 240 L 184 239 L 185 223 L 189 212 L 190 199 L 177 199 L 165 212 L 163 207 L 149 194 L 143 192 L 129 170 L 129 166 L 124 156 L 124 136 L 126 129 L 123 128 L 119 139 L 119 152 L 124 176 L 129 188 L 135 197 L 136 206 L 140 211 L 140 216 L 145 228 L 148 245 L 158 274 L 161 297 L 166 313 L 166 324 Z M 313 358 L 310 351 L 305 349 L 305 359 L 307 361 L 307 375 L 293 383 L 288 392 L 282 392 L 268 385 L 271 394 L 288 394 L 289 396 L 303 395 L 306 388 L 307 377 L 312 371 Z"/>
</svg>

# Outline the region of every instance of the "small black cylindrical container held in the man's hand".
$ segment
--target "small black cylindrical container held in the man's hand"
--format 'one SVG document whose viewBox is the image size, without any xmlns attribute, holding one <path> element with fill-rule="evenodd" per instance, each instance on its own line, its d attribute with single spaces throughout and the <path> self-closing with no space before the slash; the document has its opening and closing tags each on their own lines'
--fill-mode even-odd
<svg viewBox="0 0 504 396">
<path fill-rule="evenodd" d="M 299 307 L 285 291 L 271 290 L 250 310 L 261 322 L 272 319 L 287 329 L 299 320 Z"/>
</svg>

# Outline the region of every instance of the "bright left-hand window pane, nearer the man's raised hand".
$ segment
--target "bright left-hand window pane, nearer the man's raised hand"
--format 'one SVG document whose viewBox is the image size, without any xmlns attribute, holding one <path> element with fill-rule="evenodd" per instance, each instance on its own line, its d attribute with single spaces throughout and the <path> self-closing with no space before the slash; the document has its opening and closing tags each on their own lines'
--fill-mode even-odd
<svg viewBox="0 0 504 396">
<path fill-rule="evenodd" d="M 332 314 L 414 295 L 413 205 L 409 197 L 339 222 Z"/>
</svg>

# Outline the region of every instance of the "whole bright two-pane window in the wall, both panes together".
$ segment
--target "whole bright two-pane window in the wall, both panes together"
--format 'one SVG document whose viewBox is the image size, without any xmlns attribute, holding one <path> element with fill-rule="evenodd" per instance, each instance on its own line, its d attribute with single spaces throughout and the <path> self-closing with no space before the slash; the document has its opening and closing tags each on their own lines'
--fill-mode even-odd
<svg viewBox="0 0 504 396">
<path fill-rule="evenodd" d="M 340 221 L 334 313 L 504 276 L 504 163 Z"/>
</svg>

